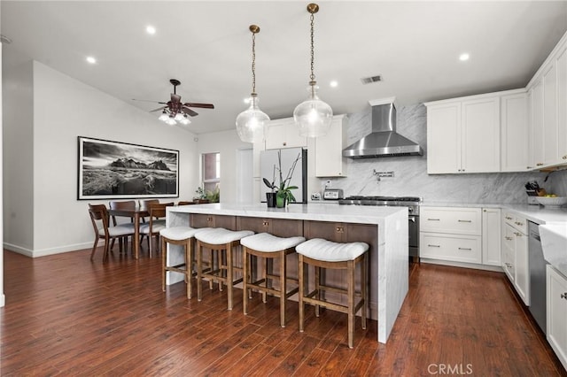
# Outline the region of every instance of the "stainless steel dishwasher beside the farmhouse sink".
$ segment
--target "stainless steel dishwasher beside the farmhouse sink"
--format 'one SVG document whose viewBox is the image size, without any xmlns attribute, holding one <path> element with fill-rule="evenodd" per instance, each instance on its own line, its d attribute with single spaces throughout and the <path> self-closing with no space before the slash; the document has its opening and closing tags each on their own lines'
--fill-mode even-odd
<svg viewBox="0 0 567 377">
<path fill-rule="evenodd" d="M 530 266 L 530 312 L 546 333 L 546 265 L 541 250 L 540 229 L 538 224 L 528 221 L 528 261 Z"/>
</svg>

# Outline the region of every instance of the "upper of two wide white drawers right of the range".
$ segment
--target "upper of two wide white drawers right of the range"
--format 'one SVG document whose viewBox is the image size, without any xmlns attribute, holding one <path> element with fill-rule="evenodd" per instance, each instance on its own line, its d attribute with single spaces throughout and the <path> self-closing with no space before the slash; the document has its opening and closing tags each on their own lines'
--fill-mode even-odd
<svg viewBox="0 0 567 377">
<path fill-rule="evenodd" d="M 454 235 L 481 235 L 480 208 L 422 207 L 420 231 Z"/>
</svg>

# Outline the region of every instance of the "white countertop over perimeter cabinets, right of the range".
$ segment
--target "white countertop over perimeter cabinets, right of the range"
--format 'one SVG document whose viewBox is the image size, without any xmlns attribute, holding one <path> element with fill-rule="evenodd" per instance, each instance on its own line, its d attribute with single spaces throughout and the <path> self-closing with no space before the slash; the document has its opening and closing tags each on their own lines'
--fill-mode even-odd
<svg viewBox="0 0 567 377">
<path fill-rule="evenodd" d="M 442 203 L 424 202 L 424 207 L 464 207 L 464 208 L 501 208 L 517 212 L 529 221 L 538 224 L 548 224 L 555 222 L 567 222 L 567 208 L 549 208 L 540 204 L 497 204 L 497 203 Z"/>
</svg>

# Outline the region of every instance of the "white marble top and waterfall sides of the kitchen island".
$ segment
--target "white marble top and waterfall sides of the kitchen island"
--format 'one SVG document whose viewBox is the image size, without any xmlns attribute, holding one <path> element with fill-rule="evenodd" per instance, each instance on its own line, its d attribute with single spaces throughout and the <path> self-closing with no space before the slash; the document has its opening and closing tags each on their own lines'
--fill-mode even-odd
<svg viewBox="0 0 567 377">
<path fill-rule="evenodd" d="M 408 293 L 408 209 L 406 207 L 334 204 L 291 204 L 287 208 L 268 208 L 266 204 L 197 204 L 167 208 L 167 227 L 204 227 L 196 215 L 211 221 L 237 219 L 284 219 L 322 225 L 362 225 L 373 230 L 370 248 L 370 317 L 377 319 L 378 342 L 385 343 Z M 202 216 L 201 216 L 202 217 Z M 193 219 L 193 221 L 191 221 Z M 214 220 L 213 220 L 214 221 Z M 194 224 L 192 222 L 195 222 Z M 265 221 L 266 222 L 266 221 Z M 241 223 L 239 221 L 238 223 Z M 216 227 L 225 227 L 221 222 Z M 374 229 L 373 227 L 377 227 Z M 307 228 L 307 227 L 306 227 Z M 338 227 L 340 228 L 340 227 Z M 308 235 L 306 235 L 308 238 Z M 169 264 L 183 262 L 181 247 L 168 245 Z M 183 274 L 168 273 L 167 284 L 183 281 Z"/>
</svg>

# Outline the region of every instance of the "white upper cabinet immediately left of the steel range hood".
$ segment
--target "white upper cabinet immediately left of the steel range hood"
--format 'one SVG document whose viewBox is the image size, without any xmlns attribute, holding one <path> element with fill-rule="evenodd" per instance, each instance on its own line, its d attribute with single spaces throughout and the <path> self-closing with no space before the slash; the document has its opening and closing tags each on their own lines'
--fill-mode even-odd
<svg viewBox="0 0 567 377">
<path fill-rule="evenodd" d="M 327 135 L 315 138 L 316 177 L 346 177 L 343 148 L 346 147 L 347 119 L 345 115 L 334 116 Z"/>
</svg>

